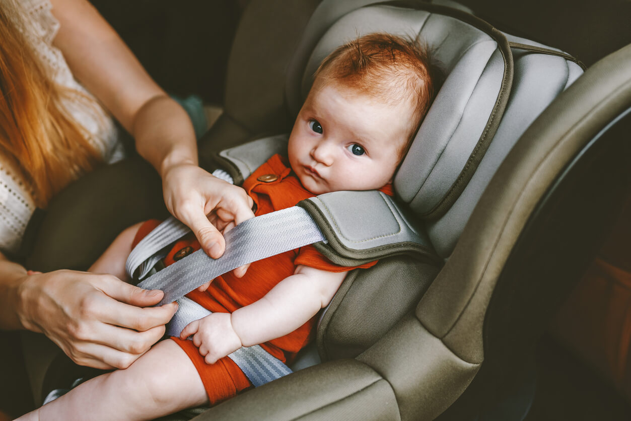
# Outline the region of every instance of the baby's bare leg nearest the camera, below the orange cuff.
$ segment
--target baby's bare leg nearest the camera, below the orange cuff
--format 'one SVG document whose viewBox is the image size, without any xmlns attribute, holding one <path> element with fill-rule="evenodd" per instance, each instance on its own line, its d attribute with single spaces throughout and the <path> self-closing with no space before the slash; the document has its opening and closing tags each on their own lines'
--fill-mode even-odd
<svg viewBox="0 0 631 421">
<path fill-rule="evenodd" d="M 153 420 L 207 402 L 189 357 L 174 341 L 165 340 L 128 369 L 90 379 L 24 419 Z"/>
</svg>

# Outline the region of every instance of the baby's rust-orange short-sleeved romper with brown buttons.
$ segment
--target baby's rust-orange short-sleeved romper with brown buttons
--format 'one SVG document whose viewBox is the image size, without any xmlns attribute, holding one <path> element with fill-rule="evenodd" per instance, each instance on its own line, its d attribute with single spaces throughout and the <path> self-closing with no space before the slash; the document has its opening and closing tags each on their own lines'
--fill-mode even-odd
<svg viewBox="0 0 631 421">
<path fill-rule="evenodd" d="M 259 181 L 261 175 L 269 174 L 276 175 L 278 179 L 271 182 Z M 263 177 L 262 179 L 269 180 L 273 178 Z M 243 187 L 254 199 L 254 203 L 256 203 L 255 214 L 257 216 L 295 206 L 299 201 L 314 196 L 314 194 L 302 187 L 298 178 L 292 174 L 290 167 L 288 167 L 286 158 L 280 155 L 274 155 L 269 158 L 266 163 L 261 165 L 245 180 Z M 386 194 L 392 194 L 391 185 L 387 184 L 382 187 L 381 191 Z M 151 232 L 159 223 L 157 220 L 150 220 L 144 223 L 138 234 L 136 234 L 134 243 Z M 194 250 L 199 249 L 199 243 L 192 234 L 175 243 L 164 259 L 165 265 L 168 266 L 174 263 L 174 254 L 187 246 L 191 246 Z M 356 267 L 369 268 L 375 263 L 377 262 Z M 203 305 L 203 307 L 212 312 L 233 312 L 240 307 L 261 299 L 274 285 L 293 275 L 298 264 L 331 272 L 355 269 L 355 267 L 333 264 L 322 256 L 315 247 L 305 246 L 252 263 L 243 278 L 236 278 L 232 273 L 225 273 L 215 278 L 208 290 L 204 292 L 194 290 L 189 292 L 186 297 Z M 296 353 L 309 343 L 316 322 L 317 316 L 314 316 L 292 333 L 262 343 L 261 347 L 281 361 L 291 362 Z M 240 391 L 252 386 L 237 364 L 228 357 L 223 357 L 215 364 L 206 364 L 204 357 L 199 354 L 198 348 L 192 341 L 183 341 L 179 338 L 172 339 L 182 347 L 195 365 L 204 383 L 211 405 L 231 398 Z"/>
</svg>

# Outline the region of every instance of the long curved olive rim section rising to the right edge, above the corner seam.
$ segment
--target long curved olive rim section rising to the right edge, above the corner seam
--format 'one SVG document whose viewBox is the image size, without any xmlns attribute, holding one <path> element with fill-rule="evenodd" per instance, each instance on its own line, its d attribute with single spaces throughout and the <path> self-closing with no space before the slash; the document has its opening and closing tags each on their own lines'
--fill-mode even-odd
<svg viewBox="0 0 631 421">
<path fill-rule="evenodd" d="M 528 127 L 481 196 L 454 252 L 416 308 L 463 359 L 483 359 L 485 309 L 524 224 L 555 177 L 631 105 L 631 45 L 594 64 Z"/>
</svg>

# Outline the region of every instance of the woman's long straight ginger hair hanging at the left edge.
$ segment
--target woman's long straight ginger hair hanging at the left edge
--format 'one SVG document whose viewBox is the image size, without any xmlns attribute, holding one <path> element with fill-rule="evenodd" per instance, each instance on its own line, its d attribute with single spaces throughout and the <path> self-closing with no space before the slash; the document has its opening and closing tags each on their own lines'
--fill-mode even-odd
<svg viewBox="0 0 631 421">
<path fill-rule="evenodd" d="M 55 83 L 25 37 L 27 20 L 13 0 L 0 4 L 0 151 L 32 184 L 44 208 L 69 182 L 102 162 L 64 100 L 95 107 L 83 93 Z"/>
</svg>

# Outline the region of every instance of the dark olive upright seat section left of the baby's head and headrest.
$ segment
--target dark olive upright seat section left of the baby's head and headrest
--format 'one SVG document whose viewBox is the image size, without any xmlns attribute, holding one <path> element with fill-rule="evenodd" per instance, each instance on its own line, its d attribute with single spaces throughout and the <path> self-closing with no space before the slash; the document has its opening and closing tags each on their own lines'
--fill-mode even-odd
<svg viewBox="0 0 631 421">
<path fill-rule="evenodd" d="M 287 133 L 291 128 L 284 96 L 286 66 L 318 3 L 252 0 L 245 9 L 228 59 L 225 112 L 251 133 Z"/>
</svg>

